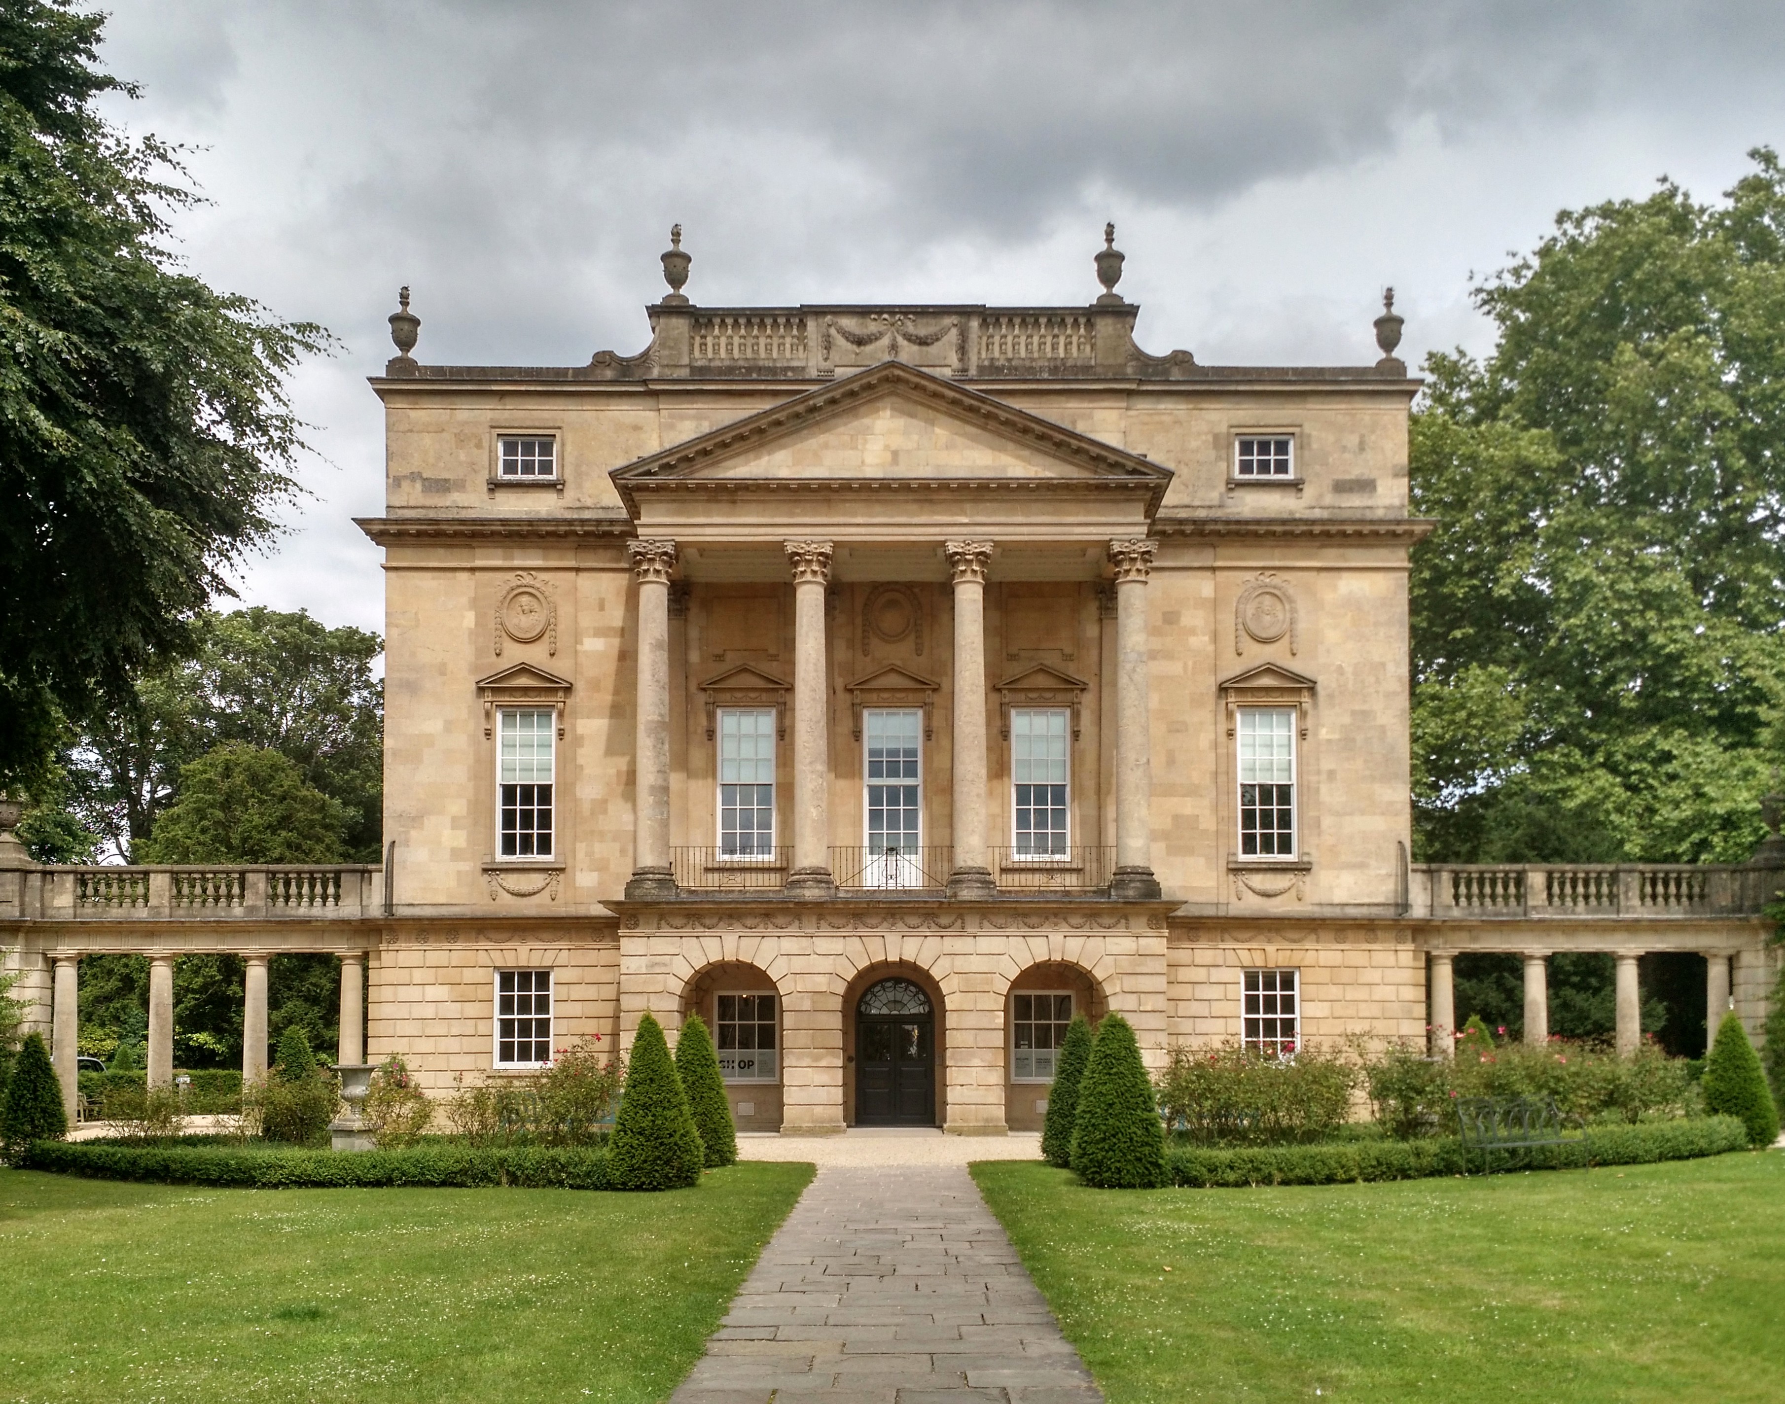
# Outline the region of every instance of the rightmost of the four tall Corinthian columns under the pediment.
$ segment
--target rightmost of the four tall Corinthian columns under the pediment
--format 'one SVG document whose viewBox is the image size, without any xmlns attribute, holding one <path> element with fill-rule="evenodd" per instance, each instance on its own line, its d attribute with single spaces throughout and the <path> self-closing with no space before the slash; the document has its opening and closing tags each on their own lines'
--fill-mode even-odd
<svg viewBox="0 0 1785 1404">
<path fill-rule="evenodd" d="M 1153 742 L 1146 699 L 1146 578 L 1157 541 L 1110 542 L 1116 567 L 1116 880 L 1110 896 L 1160 896 L 1153 876 Z"/>
</svg>

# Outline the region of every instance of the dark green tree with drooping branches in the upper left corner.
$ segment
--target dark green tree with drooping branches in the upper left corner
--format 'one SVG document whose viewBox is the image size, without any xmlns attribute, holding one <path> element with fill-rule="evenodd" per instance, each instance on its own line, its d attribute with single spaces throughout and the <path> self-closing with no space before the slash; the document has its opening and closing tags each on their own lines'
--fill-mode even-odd
<svg viewBox="0 0 1785 1404">
<path fill-rule="evenodd" d="M 102 30 L 70 0 L 0 9 L 0 783 L 189 651 L 295 492 L 284 380 L 327 344 L 178 271 L 166 214 L 196 196 L 100 118 L 136 95 Z"/>
</svg>

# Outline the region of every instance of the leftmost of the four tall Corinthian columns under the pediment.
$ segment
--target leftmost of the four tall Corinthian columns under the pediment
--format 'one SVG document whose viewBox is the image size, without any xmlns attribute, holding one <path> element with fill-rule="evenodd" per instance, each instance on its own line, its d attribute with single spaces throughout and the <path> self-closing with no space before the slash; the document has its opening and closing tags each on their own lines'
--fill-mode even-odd
<svg viewBox="0 0 1785 1404">
<path fill-rule="evenodd" d="M 639 698 L 632 758 L 634 785 L 632 881 L 628 901 L 675 896 L 669 867 L 669 571 L 675 542 L 627 542 L 627 560 L 639 582 Z"/>
</svg>

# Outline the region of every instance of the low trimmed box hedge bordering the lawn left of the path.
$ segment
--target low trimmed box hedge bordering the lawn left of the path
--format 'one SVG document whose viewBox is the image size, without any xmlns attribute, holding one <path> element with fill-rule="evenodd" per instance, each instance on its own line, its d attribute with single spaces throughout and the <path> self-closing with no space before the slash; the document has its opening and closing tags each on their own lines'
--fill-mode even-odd
<svg viewBox="0 0 1785 1404">
<path fill-rule="evenodd" d="M 412 1145 L 402 1151 L 312 1151 L 287 1145 L 39 1140 L 20 1169 L 89 1179 L 253 1190 L 511 1185 L 609 1190 L 607 1151 L 578 1145 Z"/>
</svg>

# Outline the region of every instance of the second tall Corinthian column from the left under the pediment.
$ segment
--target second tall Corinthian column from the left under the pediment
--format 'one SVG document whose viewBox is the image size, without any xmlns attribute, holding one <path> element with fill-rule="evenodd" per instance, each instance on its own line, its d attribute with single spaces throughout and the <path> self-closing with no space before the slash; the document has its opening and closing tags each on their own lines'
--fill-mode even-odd
<svg viewBox="0 0 1785 1404">
<path fill-rule="evenodd" d="M 793 564 L 793 871 L 787 890 L 828 897 L 830 876 L 830 737 L 825 724 L 830 687 L 825 676 L 825 587 L 830 583 L 830 542 L 789 541 Z"/>
</svg>

